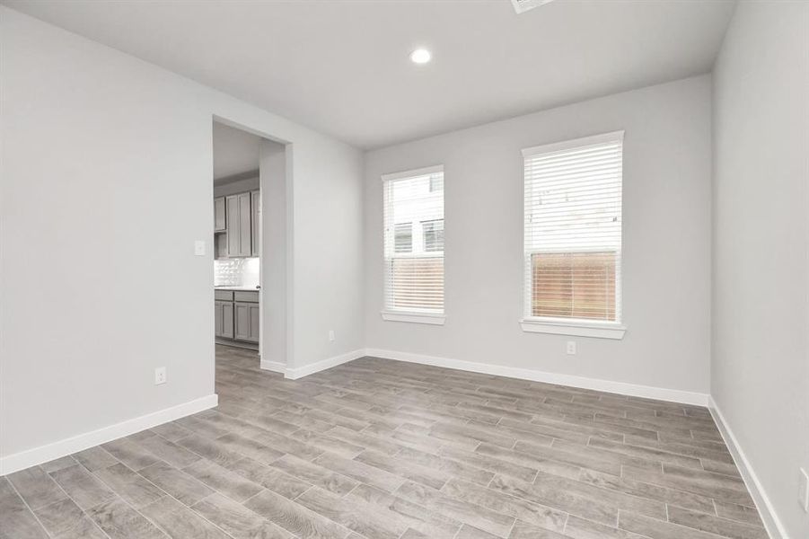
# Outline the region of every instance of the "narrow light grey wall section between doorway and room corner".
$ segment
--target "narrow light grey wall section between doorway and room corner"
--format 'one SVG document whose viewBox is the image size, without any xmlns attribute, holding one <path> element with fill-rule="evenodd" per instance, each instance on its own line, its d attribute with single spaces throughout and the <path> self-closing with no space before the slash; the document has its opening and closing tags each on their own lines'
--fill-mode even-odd
<svg viewBox="0 0 809 539">
<path fill-rule="evenodd" d="M 339 146 L 292 146 L 295 364 L 287 365 L 300 368 L 364 345 L 363 159 Z"/>
</svg>

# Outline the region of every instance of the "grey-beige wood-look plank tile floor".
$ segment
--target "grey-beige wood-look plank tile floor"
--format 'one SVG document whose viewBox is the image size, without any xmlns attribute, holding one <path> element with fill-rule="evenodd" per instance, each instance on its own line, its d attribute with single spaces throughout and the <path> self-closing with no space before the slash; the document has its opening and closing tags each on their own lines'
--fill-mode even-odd
<svg viewBox="0 0 809 539">
<path fill-rule="evenodd" d="M 0 478 L 0 536 L 757 539 L 704 408 L 217 347 L 219 407 Z"/>
</svg>

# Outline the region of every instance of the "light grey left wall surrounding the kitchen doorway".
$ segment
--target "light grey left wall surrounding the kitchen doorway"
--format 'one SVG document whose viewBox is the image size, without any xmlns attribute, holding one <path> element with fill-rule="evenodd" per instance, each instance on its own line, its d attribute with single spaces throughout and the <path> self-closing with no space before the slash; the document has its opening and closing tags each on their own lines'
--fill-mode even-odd
<svg viewBox="0 0 809 539">
<path fill-rule="evenodd" d="M 362 347 L 358 151 L 13 10 L 0 24 L 0 455 L 214 392 L 214 116 L 294 148 L 291 365 Z"/>
</svg>

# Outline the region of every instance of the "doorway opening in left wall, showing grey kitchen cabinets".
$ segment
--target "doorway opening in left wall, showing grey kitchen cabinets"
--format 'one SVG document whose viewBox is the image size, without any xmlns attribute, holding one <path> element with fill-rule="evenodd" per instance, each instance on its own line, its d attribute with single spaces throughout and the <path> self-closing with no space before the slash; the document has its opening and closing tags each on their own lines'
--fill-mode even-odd
<svg viewBox="0 0 809 539">
<path fill-rule="evenodd" d="M 286 367 L 285 155 L 283 144 L 213 121 L 217 384 L 224 365 Z"/>
</svg>

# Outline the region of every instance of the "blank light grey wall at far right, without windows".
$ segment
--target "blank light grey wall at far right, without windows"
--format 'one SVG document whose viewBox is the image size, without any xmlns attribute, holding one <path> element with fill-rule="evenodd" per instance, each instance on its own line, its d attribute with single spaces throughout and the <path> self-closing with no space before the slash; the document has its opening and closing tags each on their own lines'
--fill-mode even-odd
<svg viewBox="0 0 809 539">
<path fill-rule="evenodd" d="M 711 393 L 781 533 L 809 537 L 809 4 L 738 4 L 714 82 Z"/>
</svg>

